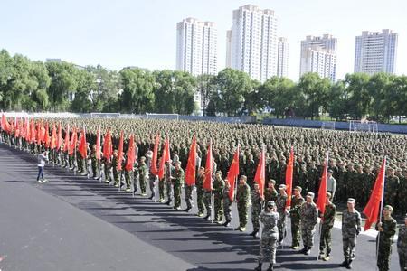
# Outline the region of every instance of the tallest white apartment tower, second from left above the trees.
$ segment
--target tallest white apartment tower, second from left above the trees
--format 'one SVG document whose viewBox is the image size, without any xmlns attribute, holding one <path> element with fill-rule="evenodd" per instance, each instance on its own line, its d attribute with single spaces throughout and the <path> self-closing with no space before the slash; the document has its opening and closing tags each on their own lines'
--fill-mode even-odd
<svg viewBox="0 0 407 271">
<path fill-rule="evenodd" d="M 227 33 L 226 66 L 264 82 L 277 75 L 277 19 L 274 11 L 243 5 L 233 11 Z"/>
</svg>

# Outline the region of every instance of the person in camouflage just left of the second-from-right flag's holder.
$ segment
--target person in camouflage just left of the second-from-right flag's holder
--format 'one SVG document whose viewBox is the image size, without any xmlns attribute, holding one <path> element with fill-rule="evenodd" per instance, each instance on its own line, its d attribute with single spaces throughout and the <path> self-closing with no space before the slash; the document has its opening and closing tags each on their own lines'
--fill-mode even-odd
<svg viewBox="0 0 407 271">
<path fill-rule="evenodd" d="M 299 252 L 309 255 L 314 246 L 315 225 L 317 225 L 317 205 L 314 203 L 314 193 L 308 192 L 306 201 L 301 205 L 301 236 L 304 248 Z"/>
</svg>

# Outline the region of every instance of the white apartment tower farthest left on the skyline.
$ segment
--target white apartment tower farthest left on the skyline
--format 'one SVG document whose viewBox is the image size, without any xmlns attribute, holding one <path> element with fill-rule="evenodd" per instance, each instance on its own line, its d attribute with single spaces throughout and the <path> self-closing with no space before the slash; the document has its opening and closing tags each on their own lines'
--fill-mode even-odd
<svg viewBox="0 0 407 271">
<path fill-rule="evenodd" d="M 176 24 L 176 70 L 217 74 L 217 30 L 212 22 L 186 18 Z"/>
</svg>

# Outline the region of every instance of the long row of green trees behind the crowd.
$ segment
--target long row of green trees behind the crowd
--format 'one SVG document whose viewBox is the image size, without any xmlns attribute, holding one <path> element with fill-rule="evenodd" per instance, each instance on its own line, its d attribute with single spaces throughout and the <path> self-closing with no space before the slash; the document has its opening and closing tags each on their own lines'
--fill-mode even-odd
<svg viewBox="0 0 407 271">
<path fill-rule="evenodd" d="M 276 117 L 389 121 L 407 115 L 407 76 L 347 74 L 332 83 L 316 73 L 298 82 L 272 77 L 260 83 L 239 70 L 194 77 L 177 70 L 78 68 L 67 62 L 31 61 L 0 51 L 0 108 L 27 111 L 193 114 L 194 94 L 204 115 L 241 116 L 271 112 Z"/>
</svg>

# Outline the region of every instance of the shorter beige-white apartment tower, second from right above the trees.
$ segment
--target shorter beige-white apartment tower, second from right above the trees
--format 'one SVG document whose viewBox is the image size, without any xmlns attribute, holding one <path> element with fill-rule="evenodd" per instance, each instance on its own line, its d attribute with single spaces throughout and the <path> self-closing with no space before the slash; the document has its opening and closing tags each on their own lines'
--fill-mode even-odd
<svg viewBox="0 0 407 271">
<path fill-rule="evenodd" d="M 299 76 L 317 72 L 321 78 L 336 80 L 336 43 L 332 35 L 322 37 L 307 36 L 301 41 L 301 61 Z"/>
</svg>

